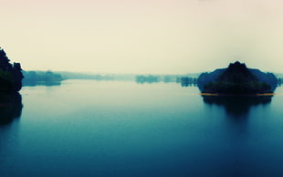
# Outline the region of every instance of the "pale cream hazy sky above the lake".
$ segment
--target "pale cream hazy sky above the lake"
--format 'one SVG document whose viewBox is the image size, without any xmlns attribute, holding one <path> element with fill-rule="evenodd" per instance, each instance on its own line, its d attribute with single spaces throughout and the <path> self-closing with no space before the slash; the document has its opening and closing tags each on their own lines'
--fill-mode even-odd
<svg viewBox="0 0 283 177">
<path fill-rule="evenodd" d="M 8 0 L 0 47 L 26 70 L 283 72 L 282 0 Z"/>
</svg>

